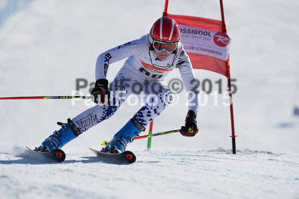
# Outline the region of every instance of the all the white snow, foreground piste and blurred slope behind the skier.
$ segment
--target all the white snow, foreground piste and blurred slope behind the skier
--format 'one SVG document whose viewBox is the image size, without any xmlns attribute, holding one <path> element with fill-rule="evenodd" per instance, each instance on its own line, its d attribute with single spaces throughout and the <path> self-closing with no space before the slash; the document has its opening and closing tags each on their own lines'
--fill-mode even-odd
<svg viewBox="0 0 299 199">
<path fill-rule="evenodd" d="M 0 9 L 6 1 L 0 0 Z M 16 2 L 16 1 L 15 1 Z M 76 78 L 95 81 L 97 56 L 149 32 L 164 0 L 33 0 L 0 28 L 0 97 L 70 95 Z M 109 120 L 65 147 L 66 160 L 36 160 L 38 146 L 54 130 L 92 104 L 70 100 L 0 100 L 1 199 L 299 199 L 299 3 L 296 0 L 224 0 L 237 154 L 232 154 L 229 107 L 223 94 L 208 95 L 198 112 L 199 133 L 134 141 L 132 165 L 99 161 L 100 149 L 140 106 L 123 104 Z M 169 0 L 168 13 L 221 19 L 218 0 Z M 123 61 L 111 64 L 112 81 Z M 200 81 L 227 80 L 196 70 Z M 180 78 L 173 71 L 167 78 Z M 202 87 L 200 87 L 202 89 Z M 184 91 L 184 90 L 183 90 Z M 178 129 L 187 113 L 184 92 L 154 122 L 153 133 Z M 203 100 L 204 101 L 204 100 Z M 145 135 L 148 132 L 148 128 Z"/>
</svg>

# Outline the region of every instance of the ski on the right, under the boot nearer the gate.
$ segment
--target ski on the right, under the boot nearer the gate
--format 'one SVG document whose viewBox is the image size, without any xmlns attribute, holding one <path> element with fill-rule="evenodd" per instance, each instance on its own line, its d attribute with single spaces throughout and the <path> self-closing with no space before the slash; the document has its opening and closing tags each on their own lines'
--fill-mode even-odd
<svg viewBox="0 0 299 199">
<path fill-rule="evenodd" d="M 90 149 L 90 148 L 89 148 Z M 111 161 L 120 164 L 132 164 L 136 161 L 133 152 L 124 151 L 121 154 L 111 154 L 90 149 L 99 159 Z"/>
</svg>

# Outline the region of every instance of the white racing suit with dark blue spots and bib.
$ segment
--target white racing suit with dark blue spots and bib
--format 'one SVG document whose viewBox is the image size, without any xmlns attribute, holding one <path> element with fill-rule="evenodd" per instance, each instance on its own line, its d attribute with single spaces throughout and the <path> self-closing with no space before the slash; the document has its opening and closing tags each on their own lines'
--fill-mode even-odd
<svg viewBox="0 0 299 199">
<path fill-rule="evenodd" d="M 109 86 L 108 106 L 96 105 L 72 119 L 80 133 L 110 118 L 129 95 L 133 94 L 138 95 L 139 100 L 143 99 L 145 103 L 133 117 L 146 127 L 172 101 L 172 92 L 165 84 L 165 77 L 175 68 L 179 69 L 186 92 L 189 93 L 188 109 L 197 113 L 199 90 L 192 64 L 183 45 L 178 42 L 175 53 L 171 53 L 165 60 L 160 60 L 151 50 L 149 37 L 149 34 L 144 35 L 98 56 L 96 80 L 106 79 L 111 63 L 128 58 Z"/>
</svg>

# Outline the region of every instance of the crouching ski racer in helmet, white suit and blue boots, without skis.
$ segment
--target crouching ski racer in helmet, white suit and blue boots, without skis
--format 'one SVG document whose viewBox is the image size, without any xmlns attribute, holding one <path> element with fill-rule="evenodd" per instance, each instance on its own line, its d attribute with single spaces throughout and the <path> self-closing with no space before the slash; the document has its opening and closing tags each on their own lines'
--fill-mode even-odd
<svg viewBox="0 0 299 199">
<path fill-rule="evenodd" d="M 127 60 L 108 88 L 106 74 L 109 65 L 124 58 Z M 188 113 L 180 133 L 187 137 L 195 136 L 198 132 L 199 90 L 190 59 L 180 43 L 179 26 L 174 19 L 163 16 L 153 24 L 149 34 L 98 56 L 96 83 L 91 91 L 92 100 L 97 105 L 72 120 L 68 119 L 65 124 L 57 122 L 61 129 L 54 131 L 35 151 L 46 152 L 63 147 L 89 128 L 109 119 L 129 95 L 135 94 L 145 102 L 144 106 L 102 149 L 107 153 L 124 152 L 127 144 L 145 131 L 146 126 L 171 103 L 172 93 L 165 84 L 165 77 L 175 68 L 179 68 L 189 93 Z"/>
</svg>

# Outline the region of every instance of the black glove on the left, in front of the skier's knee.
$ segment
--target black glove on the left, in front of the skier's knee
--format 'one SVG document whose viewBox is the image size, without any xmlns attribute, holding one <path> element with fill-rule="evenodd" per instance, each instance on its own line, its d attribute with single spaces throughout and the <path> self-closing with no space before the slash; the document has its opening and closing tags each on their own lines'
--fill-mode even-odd
<svg viewBox="0 0 299 199">
<path fill-rule="evenodd" d="M 104 105 L 108 104 L 109 98 L 110 98 L 110 92 L 108 90 L 108 80 L 107 79 L 98 79 L 95 82 L 94 88 L 91 90 L 90 94 L 91 100 L 94 103 L 101 103 Z M 100 97 L 100 98 L 99 98 Z M 101 101 L 99 101 L 99 99 Z"/>
</svg>

